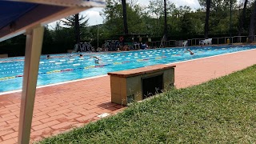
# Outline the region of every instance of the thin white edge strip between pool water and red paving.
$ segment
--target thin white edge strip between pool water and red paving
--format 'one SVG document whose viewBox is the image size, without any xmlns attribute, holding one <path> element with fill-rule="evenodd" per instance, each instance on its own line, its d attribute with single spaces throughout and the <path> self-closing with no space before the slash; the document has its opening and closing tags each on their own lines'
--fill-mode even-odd
<svg viewBox="0 0 256 144">
<path fill-rule="evenodd" d="M 253 48 L 253 49 L 250 49 L 250 50 L 256 50 L 256 47 Z M 237 53 L 246 52 L 246 51 L 250 51 L 250 50 L 236 51 L 236 52 L 227 53 L 227 54 L 237 54 Z M 223 56 L 223 55 L 227 55 L 227 54 L 219 54 L 219 55 L 214 55 L 214 56 L 205 57 L 205 58 L 214 58 L 214 57 Z M 200 59 L 204 59 L 204 58 L 196 58 L 196 59 L 191 59 L 191 60 L 182 61 L 182 62 L 191 62 L 191 61 L 200 60 Z M 182 63 L 182 62 L 167 63 L 165 65 L 174 65 L 174 64 L 178 64 L 178 63 Z M 48 87 L 48 86 L 57 86 L 57 85 L 62 85 L 62 84 L 70 83 L 70 82 L 79 82 L 79 81 L 83 81 L 83 80 L 87 80 L 87 79 L 101 78 L 101 77 L 105 77 L 105 76 L 107 76 L 107 74 L 94 76 L 94 77 L 90 77 L 90 78 L 81 78 L 81 79 L 76 79 L 76 80 L 66 81 L 66 82 L 58 82 L 58 83 L 54 83 L 54 84 L 50 84 L 50 85 L 37 86 L 36 88 L 39 89 L 39 88 Z M 13 94 L 13 93 L 21 92 L 21 91 L 22 91 L 22 89 L 21 90 L 12 90 L 12 91 L 0 92 L 0 96 L 4 95 L 4 94 Z"/>
</svg>

